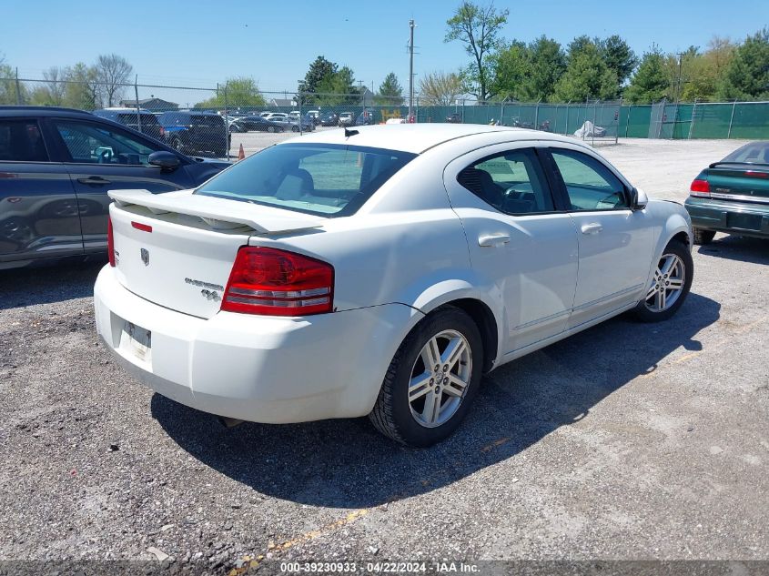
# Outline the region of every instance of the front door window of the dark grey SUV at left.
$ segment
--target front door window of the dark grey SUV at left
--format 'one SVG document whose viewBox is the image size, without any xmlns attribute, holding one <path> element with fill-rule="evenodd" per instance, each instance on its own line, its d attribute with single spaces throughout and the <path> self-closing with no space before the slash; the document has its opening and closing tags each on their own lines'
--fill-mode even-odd
<svg viewBox="0 0 769 576">
<path fill-rule="evenodd" d="M 159 149 L 111 126 L 69 120 L 56 120 L 55 124 L 77 163 L 149 166 L 149 155 Z"/>
</svg>

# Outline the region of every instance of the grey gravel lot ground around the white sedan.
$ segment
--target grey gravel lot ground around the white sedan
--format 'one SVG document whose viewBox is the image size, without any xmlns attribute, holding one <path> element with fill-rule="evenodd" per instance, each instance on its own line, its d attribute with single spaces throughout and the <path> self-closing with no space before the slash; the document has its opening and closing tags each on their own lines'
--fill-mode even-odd
<svg viewBox="0 0 769 576">
<path fill-rule="evenodd" d="M 683 200 L 740 144 L 602 153 Z M 0 272 L 0 560 L 769 560 L 769 242 L 719 235 L 694 263 L 671 321 L 494 371 L 430 450 L 367 419 L 224 429 L 98 343 L 100 264 Z"/>
</svg>

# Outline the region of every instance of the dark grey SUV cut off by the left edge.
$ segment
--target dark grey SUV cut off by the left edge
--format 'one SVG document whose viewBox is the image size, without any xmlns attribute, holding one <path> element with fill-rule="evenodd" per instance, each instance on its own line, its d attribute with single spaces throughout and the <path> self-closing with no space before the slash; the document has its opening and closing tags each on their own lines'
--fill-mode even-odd
<svg viewBox="0 0 769 576">
<path fill-rule="evenodd" d="M 0 106 L 0 270 L 106 256 L 107 191 L 197 187 L 228 166 L 87 112 Z"/>
</svg>

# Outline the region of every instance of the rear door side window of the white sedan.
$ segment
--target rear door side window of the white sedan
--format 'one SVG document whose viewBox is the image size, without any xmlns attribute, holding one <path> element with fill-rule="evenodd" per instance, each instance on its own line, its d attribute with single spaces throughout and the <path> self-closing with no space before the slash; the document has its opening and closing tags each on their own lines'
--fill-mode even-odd
<svg viewBox="0 0 769 576">
<path fill-rule="evenodd" d="M 457 181 L 505 214 L 535 214 L 555 209 L 539 159 L 531 148 L 484 158 L 462 170 Z"/>
</svg>

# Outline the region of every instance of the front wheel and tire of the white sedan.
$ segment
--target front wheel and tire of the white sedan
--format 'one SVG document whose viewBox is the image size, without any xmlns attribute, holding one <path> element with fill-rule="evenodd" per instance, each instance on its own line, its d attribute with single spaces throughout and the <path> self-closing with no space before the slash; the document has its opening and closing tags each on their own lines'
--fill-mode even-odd
<svg viewBox="0 0 769 576">
<path fill-rule="evenodd" d="M 654 269 L 646 296 L 633 310 L 642 322 L 660 322 L 671 318 L 683 305 L 692 288 L 694 262 L 689 248 L 671 240 Z"/>
</svg>

